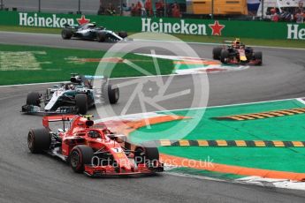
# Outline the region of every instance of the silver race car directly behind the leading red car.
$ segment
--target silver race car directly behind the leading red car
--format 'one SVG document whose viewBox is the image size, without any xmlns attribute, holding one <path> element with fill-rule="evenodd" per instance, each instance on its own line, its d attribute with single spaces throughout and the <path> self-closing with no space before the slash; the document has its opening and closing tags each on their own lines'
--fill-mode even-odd
<svg viewBox="0 0 305 203">
<path fill-rule="evenodd" d="M 98 86 L 93 86 L 93 80 Z M 118 102 L 118 86 L 112 86 L 103 76 L 78 75 L 72 73 L 70 82 L 48 88 L 44 94 L 27 94 L 27 104 L 21 112 L 26 114 L 73 114 L 85 115 L 95 104 Z"/>
</svg>

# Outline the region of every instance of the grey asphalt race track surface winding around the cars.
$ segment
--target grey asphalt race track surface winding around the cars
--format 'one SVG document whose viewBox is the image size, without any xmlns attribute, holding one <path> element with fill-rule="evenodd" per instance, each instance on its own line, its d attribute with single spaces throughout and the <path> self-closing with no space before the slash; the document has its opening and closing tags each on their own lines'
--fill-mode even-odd
<svg viewBox="0 0 305 203">
<path fill-rule="evenodd" d="M 0 42 L 79 49 L 109 49 L 113 45 L 95 41 L 62 41 L 59 35 L 54 34 L 4 32 L 0 33 Z M 133 46 L 132 42 L 130 44 Z M 211 58 L 212 46 L 191 46 L 198 55 Z M 261 49 L 262 67 L 209 74 L 209 106 L 304 96 L 304 50 Z M 148 52 L 147 49 L 140 51 Z M 191 76 L 175 77 L 169 91 L 185 86 L 190 79 Z M 119 83 L 121 79 L 114 82 Z M 21 115 L 19 109 L 26 102 L 28 92 L 42 91 L 47 86 L 50 85 L 0 87 L 0 202 L 304 201 L 304 192 L 177 177 L 167 173 L 156 177 L 98 179 L 74 174 L 65 163 L 46 155 L 30 154 L 27 149 L 28 129 L 41 126 L 42 117 Z M 121 89 L 121 102 L 116 107 L 118 110 L 123 108 L 124 101 L 132 91 L 132 87 Z M 189 101 L 182 97 L 178 102 L 164 102 L 164 107 L 182 109 L 187 108 L 188 104 Z M 141 109 L 134 102 L 128 113 L 138 112 Z"/>
</svg>

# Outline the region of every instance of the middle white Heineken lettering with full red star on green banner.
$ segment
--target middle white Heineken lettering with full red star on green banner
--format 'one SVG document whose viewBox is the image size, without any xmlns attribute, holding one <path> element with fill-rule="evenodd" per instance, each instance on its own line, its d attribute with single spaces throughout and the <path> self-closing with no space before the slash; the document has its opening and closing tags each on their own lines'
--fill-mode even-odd
<svg viewBox="0 0 305 203">
<path fill-rule="evenodd" d="M 171 23 L 164 22 L 163 19 L 152 21 L 152 19 L 141 19 L 142 32 L 166 33 L 166 34 L 197 34 L 208 35 L 207 26 L 205 24 L 187 23 L 185 19 L 180 19 L 180 22 Z M 221 35 L 221 31 L 225 25 L 219 24 L 216 20 L 214 24 L 209 24 L 211 35 Z"/>
</svg>

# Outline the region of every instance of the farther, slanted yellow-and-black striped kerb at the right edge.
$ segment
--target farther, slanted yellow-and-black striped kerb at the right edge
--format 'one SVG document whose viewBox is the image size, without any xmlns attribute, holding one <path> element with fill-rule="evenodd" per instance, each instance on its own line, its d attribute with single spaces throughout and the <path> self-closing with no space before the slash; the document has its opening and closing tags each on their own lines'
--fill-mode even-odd
<svg viewBox="0 0 305 203">
<path fill-rule="evenodd" d="M 286 116 L 293 116 L 304 113 L 305 113 L 305 108 L 297 108 L 297 109 L 272 110 L 272 111 L 253 113 L 253 114 L 231 115 L 225 117 L 213 117 L 213 118 L 217 120 L 245 121 L 245 120 L 255 120 L 255 119 L 263 119 L 263 118 L 271 118 L 271 117 L 286 117 Z"/>
</svg>

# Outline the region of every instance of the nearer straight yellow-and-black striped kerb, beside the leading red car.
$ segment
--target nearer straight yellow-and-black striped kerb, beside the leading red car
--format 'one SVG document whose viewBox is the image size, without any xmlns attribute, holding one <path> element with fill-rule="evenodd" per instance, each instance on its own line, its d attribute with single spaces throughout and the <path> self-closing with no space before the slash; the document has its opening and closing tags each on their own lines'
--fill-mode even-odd
<svg viewBox="0 0 305 203">
<path fill-rule="evenodd" d="M 149 142 L 160 147 L 305 147 L 305 141 L 279 140 L 160 139 Z"/>
</svg>

